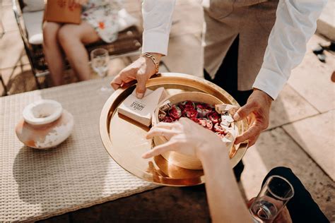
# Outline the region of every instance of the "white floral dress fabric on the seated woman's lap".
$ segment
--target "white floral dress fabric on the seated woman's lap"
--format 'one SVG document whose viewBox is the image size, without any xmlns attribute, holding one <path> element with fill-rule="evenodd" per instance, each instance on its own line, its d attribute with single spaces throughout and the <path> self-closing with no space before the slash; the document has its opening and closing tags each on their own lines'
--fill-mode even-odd
<svg viewBox="0 0 335 223">
<path fill-rule="evenodd" d="M 105 42 L 117 39 L 119 4 L 112 0 L 89 0 L 83 6 L 82 20 L 93 26 L 99 37 Z"/>
</svg>

